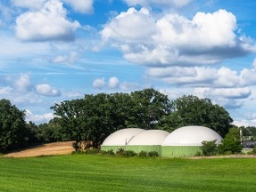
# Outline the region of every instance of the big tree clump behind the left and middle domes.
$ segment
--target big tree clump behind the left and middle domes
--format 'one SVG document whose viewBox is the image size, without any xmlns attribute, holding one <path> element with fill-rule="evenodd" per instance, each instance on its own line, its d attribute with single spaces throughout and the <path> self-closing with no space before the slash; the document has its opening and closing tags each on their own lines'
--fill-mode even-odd
<svg viewBox="0 0 256 192">
<path fill-rule="evenodd" d="M 68 140 L 92 140 L 98 148 L 112 132 L 121 128 L 156 128 L 161 116 L 169 110 L 167 96 L 153 89 L 140 92 L 99 93 L 81 100 L 55 104 L 54 114 Z"/>
</svg>

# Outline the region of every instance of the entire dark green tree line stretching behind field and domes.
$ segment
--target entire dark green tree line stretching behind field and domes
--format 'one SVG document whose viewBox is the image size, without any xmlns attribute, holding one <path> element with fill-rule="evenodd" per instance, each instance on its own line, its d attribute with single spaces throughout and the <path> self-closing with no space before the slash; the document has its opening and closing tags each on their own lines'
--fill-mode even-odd
<svg viewBox="0 0 256 192">
<path fill-rule="evenodd" d="M 54 119 L 45 124 L 25 122 L 25 111 L 0 100 L 0 152 L 38 142 L 90 140 L 98 148 L 112 132 L 128 127 L 172 132 L 186 125 L 203 125 L 225 137 L 233 126 L 227 110 L 193 95 L 169 100 L 145 89 L 131 93 L 86 94 L 83 99 L 54 104 Z"/>
</svg>

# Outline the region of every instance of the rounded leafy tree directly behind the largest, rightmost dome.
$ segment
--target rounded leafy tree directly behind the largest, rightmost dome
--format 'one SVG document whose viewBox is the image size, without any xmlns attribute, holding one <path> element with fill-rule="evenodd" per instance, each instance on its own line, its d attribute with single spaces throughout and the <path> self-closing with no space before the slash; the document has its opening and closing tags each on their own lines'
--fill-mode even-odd
<svg viewBox="0 0 256 192">
<path fill-rule="evenodd" d="M 209 99 L 189 95 L 171 101 L 171 112 L 162 118 L 161 126 L 173 131 L 186 125 L 203 125 L 224 137 L 232 122 L 225 108 L 212 104 Z"/>
</svg>

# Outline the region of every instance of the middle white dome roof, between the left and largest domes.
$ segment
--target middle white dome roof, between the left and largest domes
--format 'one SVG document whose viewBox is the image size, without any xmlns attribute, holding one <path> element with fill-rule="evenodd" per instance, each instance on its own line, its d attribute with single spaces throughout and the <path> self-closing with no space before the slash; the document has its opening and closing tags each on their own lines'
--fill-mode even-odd
<svg viewBox="0 0 256 192">
<path fill-rule="evenodd" d="M 169 132 L 162 130 L 147 130 L 138 133 L 128 142 L 128 146 L 137 145 L 161 145 L 162 141 L 169 135 Z"/>
</svg>

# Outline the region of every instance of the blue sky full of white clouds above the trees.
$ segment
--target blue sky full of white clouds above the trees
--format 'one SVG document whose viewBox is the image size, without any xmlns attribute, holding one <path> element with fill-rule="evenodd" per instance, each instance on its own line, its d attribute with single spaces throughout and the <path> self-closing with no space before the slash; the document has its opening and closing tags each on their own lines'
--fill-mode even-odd
<svg viewBox="0 0 256 192">
<path fill-rule="evenodd" d="M 1 0 L 0 99 L 36 124 L 98 92 L 209 98 L 256 125 L 256 1 Z"/>
</svg>

